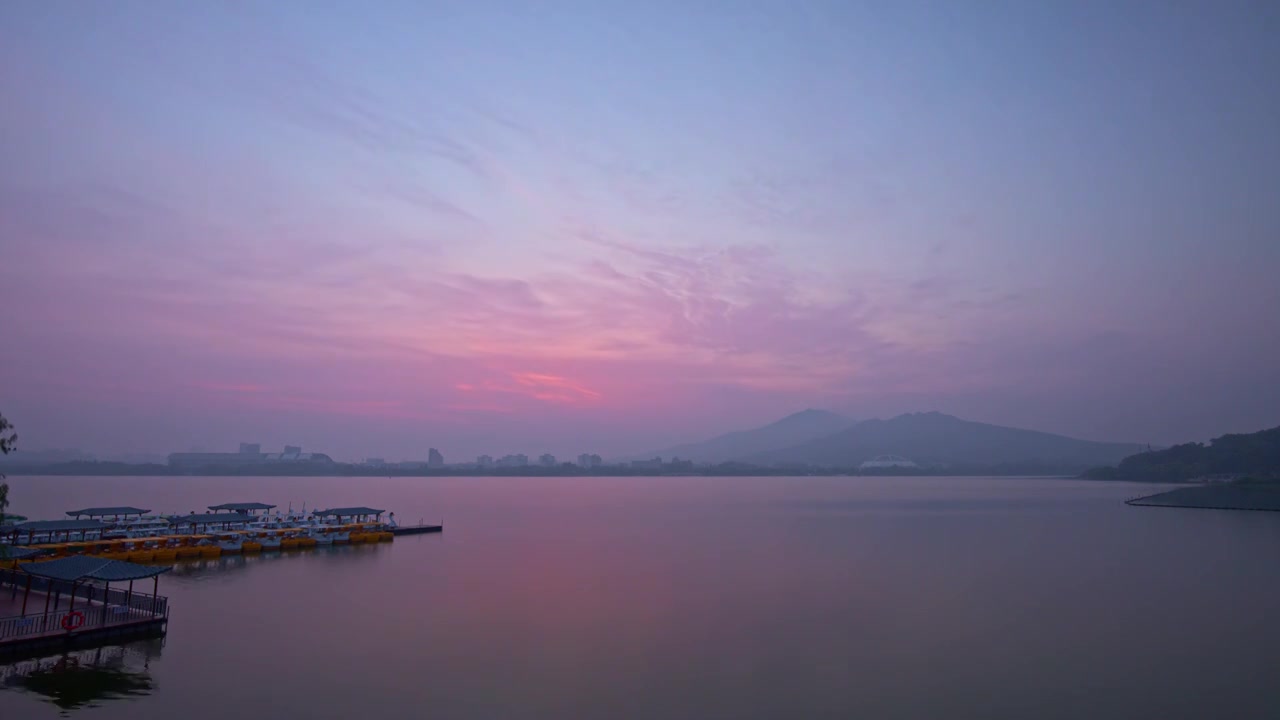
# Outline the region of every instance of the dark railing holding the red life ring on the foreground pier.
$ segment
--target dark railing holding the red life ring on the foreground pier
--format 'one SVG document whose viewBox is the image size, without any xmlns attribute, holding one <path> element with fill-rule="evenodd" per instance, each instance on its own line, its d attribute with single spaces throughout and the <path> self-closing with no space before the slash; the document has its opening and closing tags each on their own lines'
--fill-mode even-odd
<svg viewBox="0 0 1280 720">
<path fill-rule="evenodd" d="M 13 639 L 27 635 L 40 635 L 50 632 L 63 632 L 63 619 L 72 612 L 84 615 L 79 629 L 120 625 L 136 620 L 151 620 L 169 616 L 169 598 L 165 596 L 128 592 L 119 588 L 105 589 L 92 584 L 73 584 L 65 580 L 36 578 L 14 570 L 0 570 L 0 592 L 17 596 L 27 592 L 27 580 L 35 592 L 56 596 L 55 610 L 45 612 L 47 598 L 33 600 L 24 616 L 0 618 L 0 639 Z M 69 600 L 74 591 L 77 607 L 73 610 Z M 105 591 L 105 592 L 104 592 Z M 90 602 L 92 601 L 92 602 Z"/>
</svg>

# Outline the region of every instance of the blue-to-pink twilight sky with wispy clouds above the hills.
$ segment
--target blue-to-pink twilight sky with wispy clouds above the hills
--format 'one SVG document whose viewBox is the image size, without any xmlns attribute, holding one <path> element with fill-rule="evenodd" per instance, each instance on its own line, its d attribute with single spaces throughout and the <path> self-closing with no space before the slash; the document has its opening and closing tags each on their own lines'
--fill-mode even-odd
<svg viewBox="0 0 1280 720">
<path fill-rule="evenodd" d="M 19 447 L 1280 424 L 1280 4 L 0 4 Z"/>
</svg>

